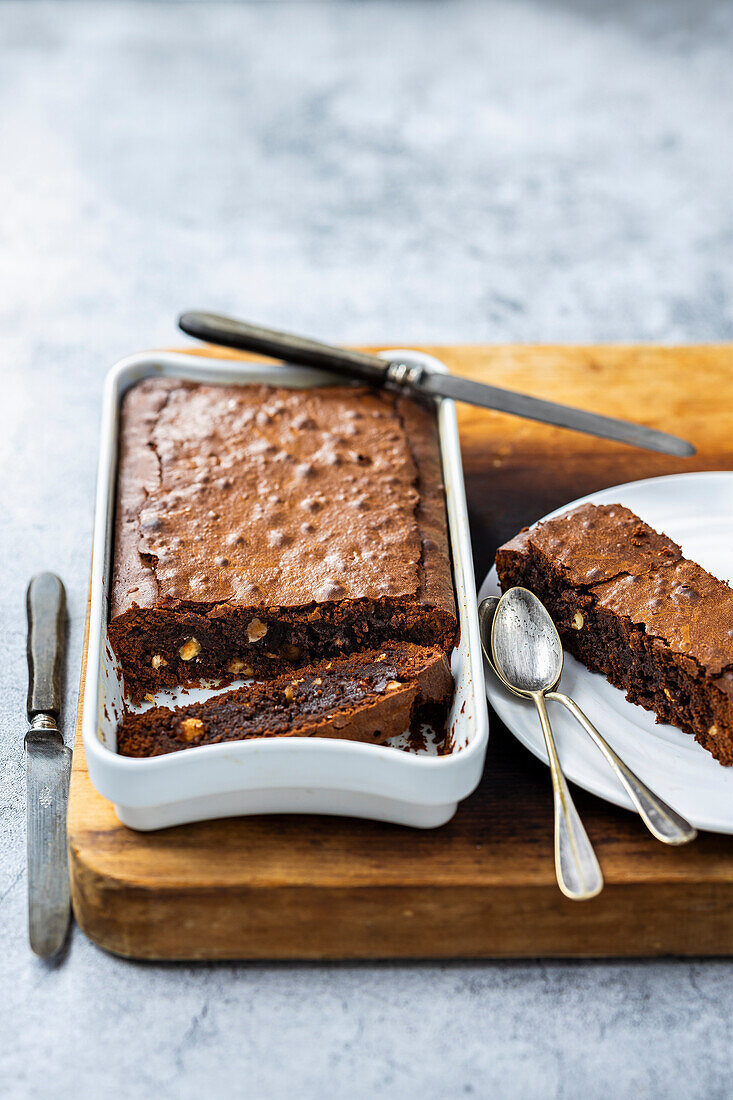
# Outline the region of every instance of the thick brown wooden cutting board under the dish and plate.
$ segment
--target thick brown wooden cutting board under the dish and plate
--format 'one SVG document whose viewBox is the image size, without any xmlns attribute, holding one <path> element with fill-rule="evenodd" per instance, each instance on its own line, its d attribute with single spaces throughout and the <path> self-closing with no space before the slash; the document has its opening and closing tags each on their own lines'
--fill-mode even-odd
<svg viewBox="0 0 733 1100">
<path fill-rule="evenodd" d="M 669 459 L 460 406 L 479 582 L 501 542 L 578 496 L 733 469 L 733 345 L 425 350 L 471 378 L 636 418 L 698 447 L 693 459 Z M 547 769 L 491 717 L 483 781 L 435 832 L 281 816 L 134 833 L 91 787 L 77 722 L 76 919 L 102 947 L 149 959 L 733 953 L 733 837 L 665 848 L 635 815 L 578 791 L 606 884 L 570 902 L 555 882 Z"/>
</svg>

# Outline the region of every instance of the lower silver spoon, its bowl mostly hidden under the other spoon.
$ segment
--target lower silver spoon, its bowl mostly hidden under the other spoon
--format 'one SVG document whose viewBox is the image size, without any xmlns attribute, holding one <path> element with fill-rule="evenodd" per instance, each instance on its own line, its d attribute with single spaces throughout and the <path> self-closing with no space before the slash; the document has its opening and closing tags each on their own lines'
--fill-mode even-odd
<svg viewBox="0 0 733 1100">
<path fill-rule="evenodd" d="M 499 603 L 500 601 L 497 596 L 486 596 L 486 598 L 482 600 L 479 605 L 481 645 L 484 657 L 492 668 L 494 668 L 494 663 L 491 654 L 491 625 L 496 608 L 499 607 Z M 540 603 L 540 601 L 537 601 L 537 603 Z M 540 606 L 549 618 L 547 609 L 541 603 Z M 555 628 L 554 623 L 553 628 Z M 496 671 L 495 668 L 494 671 Z M 513 688 L 510 688 L 510 691 L 513 691 L 514 694 L 519 694 Z M 652 791 L 646 783 L 644 783 L 638 776 L 624 763 L 621 757 L 619 757 L 617 754 L 611 748 L 605 738 L 601 736 L 590 718 L 588 718 L 588 716 L 580 710 L 573 698 L 558 691 L 545 692 L 545 698 L 554 698 L 557 700 L 558 703 L 561 703 L 570 712 L 570 714 L 578 719 L 586 733 L 590 735 L 593 743 L 598 746 L 608 762 L 613 768 L 616 778 L 625 788 L 630 799 L 636 806 L 642 821 L 653 836 L 655 836 L 658 840 L 661 840 L 663 844 L 669 845 L 689 844 L 690 840 L 694 840 L 698 835 L 698 831 L 690 825 L 685 817 L 672 810 L 671 806 L 667 805 L 664 799 L 660 799 L 658 794 L 655 794 L 655 792 Z"/>
</svg>

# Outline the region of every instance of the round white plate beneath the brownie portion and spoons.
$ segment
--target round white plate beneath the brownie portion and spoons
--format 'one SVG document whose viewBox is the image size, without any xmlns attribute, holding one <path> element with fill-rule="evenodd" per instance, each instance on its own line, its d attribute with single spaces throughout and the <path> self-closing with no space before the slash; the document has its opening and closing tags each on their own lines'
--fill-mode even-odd
<svg viewBox="0 0 733 1100">
<path fill-rule="evenodd" d="M 680 543 L 686 557 L 722 580 L 733 580 L 733 473 L 677 474 L 616 485 L 573 501 L 624 504 L 657 530 Z M 501 595 L 492 569 L 479 597 Z M 486 694 L 508 729 L 547 763 L 536 712 L 512 695 L 486 668 Z M 561 691 L 572 695 L 626 763 L 698 828 L 733 833 L 733 768 L 723 768 L 689 735 L 656 725 L 654 715 L 627 703 L 625 695 L 597 672 L 565 654 Z M 587 734 L 558 703 L 550 719 L 566 776 L 593 794 L 632 809 L 608 763 Z"/>
</svg>

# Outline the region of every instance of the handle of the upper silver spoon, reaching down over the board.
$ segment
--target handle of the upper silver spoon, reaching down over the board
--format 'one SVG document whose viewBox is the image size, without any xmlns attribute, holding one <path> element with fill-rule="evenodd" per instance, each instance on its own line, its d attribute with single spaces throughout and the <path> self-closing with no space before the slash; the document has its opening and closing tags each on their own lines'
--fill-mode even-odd
<svg viewBox="0 0 733 1100">
<path fill-rule="evenodd" d="M 560 768 L 553 727 L 545 706 L 545 697 L 541 692 L 534 692 L 532 697 L 539 714 L 553 777 L 555 871 L 558 886 L 567 898 L 571 898 L 573 901 L 586 901 L 601 892 L 603 876 Z"/>
</svg>

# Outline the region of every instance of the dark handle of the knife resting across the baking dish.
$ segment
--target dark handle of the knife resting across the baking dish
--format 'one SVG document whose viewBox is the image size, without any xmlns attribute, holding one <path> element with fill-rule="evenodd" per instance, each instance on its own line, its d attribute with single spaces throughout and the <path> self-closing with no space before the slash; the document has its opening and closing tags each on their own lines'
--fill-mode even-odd
<svg viewBox="0 0 733 1100">
<path fill-rule="evenodd" d="M 386 382 L 389 362 L 366 352 L 333 348 L 289 332 L 264 329 L 260 324 L 237 321 L 233 317 L 198 310 L 182 314 L 178 327 L 189 337 L 205 340 L 207 343 L 223 344 L 225 348 L 258 352 L 269 359 L 282 359 L 287 363 L 347 374 L 351 378 L 361 378 L 372 386 L 380 386 Z"/>
</svg>

